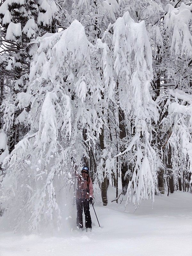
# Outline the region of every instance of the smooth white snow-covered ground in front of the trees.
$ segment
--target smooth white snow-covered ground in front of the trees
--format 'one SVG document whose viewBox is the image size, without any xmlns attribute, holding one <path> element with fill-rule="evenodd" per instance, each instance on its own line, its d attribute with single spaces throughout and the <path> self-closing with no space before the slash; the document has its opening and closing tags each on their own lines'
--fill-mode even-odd
<svg viewBox="0 0 192 256">
<path fill-rule="evenodd" d="M 75 216 L 59 235 L 1 232 L 0 256 L 192 256 L 192 194 L 156 196 L 153 209 L 148 200 L 136 212 L 116 202 L 95 210 L 102 228 L 91 207 L 92 232 L 77 231 Z"/>
</svg>

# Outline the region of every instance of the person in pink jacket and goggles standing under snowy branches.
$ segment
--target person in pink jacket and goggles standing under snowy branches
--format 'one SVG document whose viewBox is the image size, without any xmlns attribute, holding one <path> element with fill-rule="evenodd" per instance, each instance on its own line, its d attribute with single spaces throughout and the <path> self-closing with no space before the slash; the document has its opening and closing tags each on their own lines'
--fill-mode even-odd
<svg viewBox="0 0 192 256">
<path fill-rule="evenodd" d="M 84 166 L 81 175 L 77 177 L 76 206 L 77 228 L 83 228 L 83 209 L 85 214 L 85 228 L 92 228 L 89 204 L 93 200 L 93 183 L 89 176 L 89 167 Z"/>
</svg>

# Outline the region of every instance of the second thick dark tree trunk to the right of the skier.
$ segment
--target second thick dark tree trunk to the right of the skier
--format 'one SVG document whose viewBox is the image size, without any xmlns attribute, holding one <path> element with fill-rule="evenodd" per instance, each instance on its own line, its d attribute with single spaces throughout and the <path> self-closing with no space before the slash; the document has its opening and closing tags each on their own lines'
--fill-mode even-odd
<svg viewBox="0 0 192 256">
<path fill-rule="evenodd" d="M 126 137 L 126 129 L 125 129 L 125 114 L 124 111 L 119 108 L 119 138 L 120 140 L 123 140 Z M 125 150 L 124 146 L 121 150 L 121 152 L 123 152 Z M 121 182 L 122 182 L 122 193 L 123 195 L 126 194 L 127 192 L 127 188 L 128 188 L 128 184 L 129 184 L 129 180 L 126 177 L 125 178 L 125 174 L 128 171 L 128 166 L 125 163 L 125 161 L 122 159 L 122 164 L 121 164 Z"/>
</svg>

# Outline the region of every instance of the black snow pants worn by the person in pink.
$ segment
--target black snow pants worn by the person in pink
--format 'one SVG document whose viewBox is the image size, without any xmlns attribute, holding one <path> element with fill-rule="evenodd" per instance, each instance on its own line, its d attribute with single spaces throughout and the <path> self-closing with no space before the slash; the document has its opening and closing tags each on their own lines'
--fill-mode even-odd
<svg viewBox="0 0 192 256">
<path fill-rule="evenodd" d="M 85 214 L 85 228 L 92 228 L 91 214 L 89 211 L 89 199 L 77 199 L 77 227 L 83 228 L 83 209 Z"/>
</svg>

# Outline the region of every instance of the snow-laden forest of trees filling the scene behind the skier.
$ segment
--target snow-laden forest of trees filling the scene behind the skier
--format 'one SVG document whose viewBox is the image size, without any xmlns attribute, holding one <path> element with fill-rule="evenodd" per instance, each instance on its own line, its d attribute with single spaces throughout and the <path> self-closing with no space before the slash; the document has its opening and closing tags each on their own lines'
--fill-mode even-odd
<svg viewBox="0 0 192 256">
<path fill-rule="evenodd" d="M 86 164 L 95 201 L 192 193 L 192 4 L 0 2 L 0 207 L 60 228 Z M 65 196 L 64 196 L 65 195 Z"/>
</svg>

